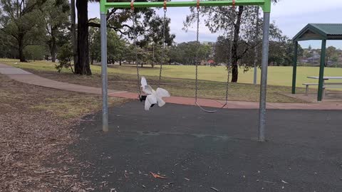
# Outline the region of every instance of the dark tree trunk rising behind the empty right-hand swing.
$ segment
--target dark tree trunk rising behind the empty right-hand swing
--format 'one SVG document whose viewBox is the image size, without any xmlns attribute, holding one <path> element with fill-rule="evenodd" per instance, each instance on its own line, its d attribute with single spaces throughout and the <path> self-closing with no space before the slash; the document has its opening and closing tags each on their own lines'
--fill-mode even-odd
<svg viewBox="0 0 342 192">
<path fill-rule="evenodd" d="M 237 13 L 237 23 L 234 24 L 234 40 L 233 40 L 233 47 L 232 47 L 232 82 L 237 82 L 237 78 L 239 75 L 239 66 L 237 65 L 239 58 L 237 56 L 237 49 L 238 49 L 238 43 L 239 43 L 241 17 L 242 17 L 243 12 L 244 12 L 244 6 L 239 6 L 239 11 Z"/>
</svg>

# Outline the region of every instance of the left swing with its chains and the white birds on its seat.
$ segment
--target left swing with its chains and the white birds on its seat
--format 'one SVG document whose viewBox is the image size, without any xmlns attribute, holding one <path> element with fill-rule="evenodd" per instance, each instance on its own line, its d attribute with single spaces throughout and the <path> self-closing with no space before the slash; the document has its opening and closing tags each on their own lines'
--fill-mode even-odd
<svg viewBox="0 0 342 192">
<path fill-rule="evenodd" d="M 163 33 L 163 49 L 165 50 L 165 43 L 166 43 L 166 38 L 165 38 L 165 23 L 166 23 L 166 2 L 164 1 L 164 20 L 162 22 L 162 33 Z M 133 30 L 134 30 L 134 44 L 135 46 L 137 45 L 137 38 L 138 38 L 138 33 L 135 28 L 135 14 L 134 14 L 134 1 L 131 1 L 130 7 L 131 11 L 133 13 Z M 165 58 L 165 51 L 162 52 Z M 157 90 L 153 90 L 150 85 L 147 85 L 147 80 L 145 77 L 141 77 L 140 80 L 140 74 L 139 74 L 139 63 L 138 63 L 138 53 L 135 51 L 135 63 L 136 63 L 136 68 L 137 68 L 137 82 L 138 82 L 138 99 L 140 102 L 145 101 L 145 110 L 150 110 L 150 107 L 155 106 L 155 104 L 158 104 L 159 107 L 162 107 L 165 105 L 164 100 L 162 100 L 162 97 L 170 97 L 170 93 L 167 92 L 167 90 L 160 88 L 160 81 L 162 79 L 162 65 L 163 62 L 160 63 L 160 71 L 159 71 L 159 79 L 158 79 L 158 87 Z M 144 92 L 144 94 L 142 94 Z"/>
</svg>

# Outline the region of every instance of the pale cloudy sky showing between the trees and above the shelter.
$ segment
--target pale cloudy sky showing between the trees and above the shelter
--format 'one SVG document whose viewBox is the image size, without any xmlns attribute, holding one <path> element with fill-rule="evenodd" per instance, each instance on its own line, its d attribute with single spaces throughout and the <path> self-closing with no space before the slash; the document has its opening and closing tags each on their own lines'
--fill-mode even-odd
<svg viewBox="0 0 342 192">
<path fill-rule="evenodd" d="M 89 18 L 100 17 L 99 9 L 99 4 L 89 4 Z M 157 13 L 163 14 L 163 11 L 158 10 Z M 171 33 L 176 35 L 177 43 L 196 40 L 195 28 L 190 28 L 187 32 L 182 30 L 187 14 L 190 14 L 189 8 L 167 9 L 167 17 L 171 18 Z M 307 23 L 342 23 L 342 0 L 281 0 L 272 5 L 271 21 L 276 23 L 284 35 L 292 38 Z M 203 23 L 200 23 L 199 30 L 200 41 L 214 42 L 222 34 L 211 33 Z M 301 41 L 300 44 L 303 48 L 309 45 L 321 48 L 321 41 Z M 327 41 L 327 46 L 342 49 L 342 41 Z"/>
</svg>

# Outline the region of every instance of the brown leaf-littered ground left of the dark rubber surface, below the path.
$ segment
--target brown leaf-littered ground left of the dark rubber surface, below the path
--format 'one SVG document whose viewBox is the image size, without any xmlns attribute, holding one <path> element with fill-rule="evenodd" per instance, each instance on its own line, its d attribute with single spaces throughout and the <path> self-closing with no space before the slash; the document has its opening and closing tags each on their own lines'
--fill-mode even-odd
<svg viewBox="0 0 342 192">
<path fill-rule="evenodd" d="M 0 191 L 91 191 L 68 146 L 80 117 L 100 110 L 98 95 L 53 90 L 0 75 Z M 110 100 L 115 105 L 125 100 Z"/>
</svg>

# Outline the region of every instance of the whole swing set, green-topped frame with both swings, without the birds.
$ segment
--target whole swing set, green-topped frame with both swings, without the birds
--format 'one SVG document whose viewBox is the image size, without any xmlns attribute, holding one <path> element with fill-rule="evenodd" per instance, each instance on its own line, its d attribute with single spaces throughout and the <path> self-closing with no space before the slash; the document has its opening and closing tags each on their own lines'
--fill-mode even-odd
<svg viewBox="0 0 342 192">
<path fill-rule="evenodd" d="M 101 31 L 101 75 L 102 75 L 102 97 L 103 97 L 103 132 L 108 132 L 108 74 L 107 74 L 107 13 L 111 8 L 115 9 L 131 9 L 133 11 L 133 31 L 134 42 L 136 44 L 138 35 L 135 30 L 135 8 L 163 8 L 164 9 L 164 20 L 163 20 L 163 48 L 165 49 L 165 25 L 166 25 L 166 12 L 167 7 L 197 7 L 197 37 L 196 41 L 199 43 L 199 12 L 201 6 L 260 6 L 264 11 L 264 26 L 263 26 L 263 41 L 262 41 L 262 60 L 261 60 L 261 85 L 260 85 L 260 102 L 259 102 L 259 141 L 265 141 L 265 126 L 266 126 L 266 82 L 267 82 L 267 65 L 269 55 L 269 20 L 271 12 L 271 0 L 227 0 L 227 1 L 147 1 L 147 2 L 108 2 L 107 0 L 100 0 L 100 31 Z M 136 52 L 135 52 L 136 53 Z M 165 52 L 163 52 L 165 54 Z M 137 53 L 136 53 L 137 54 Z M 199 53 L 196 53 L 196 78 L 195 78 L 195 104 L 204 112 L 214 113 L 217 110 L 206 110 L 204 107 L 199 105 L 197 102 L 197 90 L 198 90 L 198 65 L 199 65 Z M 138 55 L 135 57 L 138 59 Z M 139 63 L 136 63 L 137 78 L 138 78 L 138 89 L 139 89 L 139 100 L 143 101 L 146 99 L 145 95 L 142 95 L 140 90 L 140 74 L 139 74 Z M 227 63 L 227 84 L 226 84 L 226 97 L 225 103 L 220 107 L 224 108 L 228 104 L 228 85 L 229 85 L 229 70 L 231 58 Z M 158 85 L 160 87 L 160 81 L 162 78 L 162 63 L 160 63 L 160 74 Z"/>
</svg>

